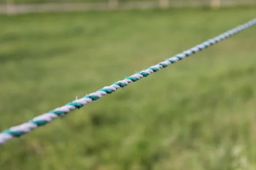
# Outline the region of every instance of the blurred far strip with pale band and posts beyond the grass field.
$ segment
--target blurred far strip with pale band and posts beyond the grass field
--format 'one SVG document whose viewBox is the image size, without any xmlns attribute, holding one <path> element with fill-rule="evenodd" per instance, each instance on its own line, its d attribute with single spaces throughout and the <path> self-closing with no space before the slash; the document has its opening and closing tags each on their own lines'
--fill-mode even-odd
<svg viewBox="0 0 256 170">
<path fill-rule="evenodd" d="M 256 0 L 0 0 L 0 13 L 255 5 Z"/>
</svg>

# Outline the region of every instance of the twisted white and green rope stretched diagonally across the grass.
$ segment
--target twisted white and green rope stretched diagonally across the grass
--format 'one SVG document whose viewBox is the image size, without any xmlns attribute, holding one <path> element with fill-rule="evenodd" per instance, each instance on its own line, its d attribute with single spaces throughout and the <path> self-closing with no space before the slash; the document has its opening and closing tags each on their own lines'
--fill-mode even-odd
<svg viewBox="0 0 256 170">
<path fill-rule="evenodd" d="M 116 91 L 119 88 L 124 88 L 125 86 L 129 85 L 129 83 L 131 82 L 136 82 L 137 80 L 142 79 L 143 77 L 148 77 L 151 73 L 159 71 L 161 68 L 166 68 L 170 64 L 174 64 L 175 62 L 185 57 L 189 57 L 191 54 L 195 54 L 196 52 L 201 51 L 209 47 L 210 45 L 214 45 L 217 42 L 220 42 L 234 34 L 237 34 L 240 31 L 243 31 L 244 29 L 247 29 L 253 25 L 256 25 L 256 18 L 240 26 L 237 26 L 236 28 L 233 28 L 230 31 L 220 34 L 217 37 L 214 37 L 199 45 L 196 45 L 195 47 L 190 48 L 187 51 L 183 51 L 182 53 L 177 54 L 174 57 L 166 59 L 165 61 L 160 62 L 157 65 L 153 65 L 143 71 L 133 74 L 130 77 L 125 78 L 124 80 L 115 82 L 113 85 L 106 86 L 94 93 L 84 96 L 81 99 L 76 99 L 73 102 L 70 102 L 64 106 L 61 106 L 60 108 L 55 108 L 54 110 L 49 111 L 48 113 L 44 113 L 40 116 L 35 117 L 34 119 L 30 120 L 27 123 L 4 130 L 2 133 L 0 133 L 0 145 L 4 144 L 6 141 L 9 141 L 15 137 L 21 137 L 24 134 L 29 133 L 33 129 L 36 129 L 49 122 L 52 122 L 53 119 L 56 119 L 59 116 L 65 116 L 67 113 L 70 113 L 70 111 L 73 111 L 77 108 L 82 108 L 87 103 L 96 101 L 106 94 L 111 94 L 113 91 Z"/>
</svg>

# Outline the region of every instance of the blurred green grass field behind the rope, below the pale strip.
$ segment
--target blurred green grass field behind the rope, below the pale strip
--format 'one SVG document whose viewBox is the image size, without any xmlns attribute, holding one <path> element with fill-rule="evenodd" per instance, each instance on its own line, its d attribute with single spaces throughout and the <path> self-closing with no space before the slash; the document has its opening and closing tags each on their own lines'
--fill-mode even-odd
<svg viewBox="0 0 256 170">
<path fill-rule="evenodd" d="M 253 17 L 253 8 L 2 15 L 0 130 Z M 255 34 L 243 31 L 7 142 L 0 169 L 256 167 Z"/>
</svg>

